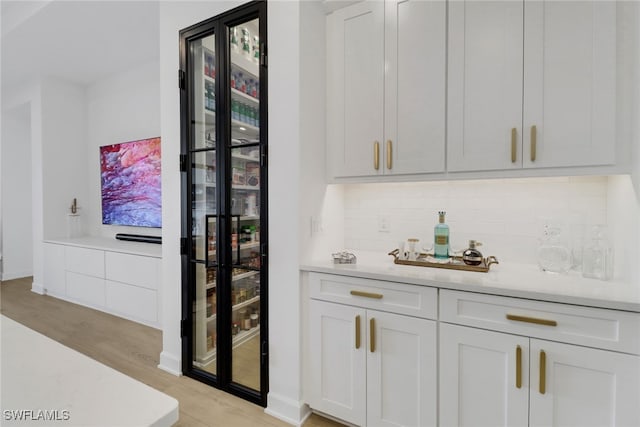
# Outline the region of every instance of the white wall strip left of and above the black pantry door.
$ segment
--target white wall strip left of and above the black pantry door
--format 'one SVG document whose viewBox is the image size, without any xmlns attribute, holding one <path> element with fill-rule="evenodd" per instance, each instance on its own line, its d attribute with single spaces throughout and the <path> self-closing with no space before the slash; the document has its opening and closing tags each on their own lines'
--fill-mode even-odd
<svg viewBox="0 0 640 427">
<path fill-rule="evenodd" d="M 244 1 L 160 2 L 160 123 L 162 136 L 162 353 L 159 367 L 182 372 L 179 31 Z"/>
</svg>

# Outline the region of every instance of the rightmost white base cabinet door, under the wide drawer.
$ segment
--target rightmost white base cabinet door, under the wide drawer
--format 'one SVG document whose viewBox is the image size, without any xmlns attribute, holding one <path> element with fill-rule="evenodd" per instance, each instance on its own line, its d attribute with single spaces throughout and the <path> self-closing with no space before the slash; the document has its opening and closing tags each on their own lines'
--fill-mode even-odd
<svg viewBox="0 0 640 427">
<path fill-rule="evenodd" d="M 638 426 L 639 378 L 638 356 L 532 339 L 530 425 Z"/>
</svg>

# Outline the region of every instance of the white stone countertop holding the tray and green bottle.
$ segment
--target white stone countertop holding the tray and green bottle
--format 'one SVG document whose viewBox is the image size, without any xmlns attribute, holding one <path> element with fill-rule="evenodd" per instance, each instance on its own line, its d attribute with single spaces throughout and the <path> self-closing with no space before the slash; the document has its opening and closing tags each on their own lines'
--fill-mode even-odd
<svg viewBox="0 0 640 427">
<path fill-rule="evenodd" d="M 531 264 L 493 264 L 488 273 L 396 265 L 386 254 L 349 252 L 356 255 L 357 264 L 327 259 L 300 270 L 640 313 L 640 283 L 587 279 L 575 271 L 547 273 Z"/>
</svg>

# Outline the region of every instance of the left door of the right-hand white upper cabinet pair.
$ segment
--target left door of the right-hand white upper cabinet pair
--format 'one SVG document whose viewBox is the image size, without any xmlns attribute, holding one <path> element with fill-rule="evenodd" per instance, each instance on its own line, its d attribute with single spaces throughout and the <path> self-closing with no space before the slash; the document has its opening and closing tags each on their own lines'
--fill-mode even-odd
<svg viewBox="0 0 640 427">
<path fill-rule="evenodd" d="M 522 1 L 449 2 L 450 171 L 522 165 L 522 14 Z"/>
</svg>

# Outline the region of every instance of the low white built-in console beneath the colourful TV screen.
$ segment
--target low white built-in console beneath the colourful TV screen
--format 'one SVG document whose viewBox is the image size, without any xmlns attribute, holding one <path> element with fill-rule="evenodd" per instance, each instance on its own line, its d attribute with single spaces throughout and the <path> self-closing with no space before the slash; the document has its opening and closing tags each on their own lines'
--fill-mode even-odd
<svg viewBox="0 0 640 427">
<path fill-rule="evenodd" d="M 148 326 L 160 326 L 159 245 L 80 238 L 43 244 L 43 291 Z"/>
</svg>

